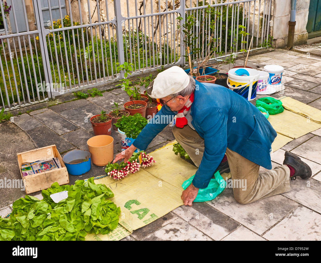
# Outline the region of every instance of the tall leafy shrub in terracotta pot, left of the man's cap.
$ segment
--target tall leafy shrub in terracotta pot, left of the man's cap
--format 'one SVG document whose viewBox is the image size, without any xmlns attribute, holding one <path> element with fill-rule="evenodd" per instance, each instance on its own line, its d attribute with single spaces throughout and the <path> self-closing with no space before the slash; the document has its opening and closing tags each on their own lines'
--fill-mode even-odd
<svg viewBox="0 0 321 263">
<path fill-rule="evenodd" d="M 124 62 L 124 64 L 117 63 L 117 72 L 119 73 L 124 71 L 125 78 L 121 79 L 121 83 L 116 86 L 121 86 L 122 90 L 124 90 L 130 98 L 130 101 L 124 104 L 124 108 L 129 112 L 129 115 L 139 113 L 145 118 L 147 103 L 145 101 L 134 100 L 134 98 L 140 98 L 140 89 L 135 86 L 131 86 L 133 83 L 127 79 L 128 75 L 131 75 L 131 72 L 133 71 L 133 65 L 133 63 L 128 64 L 127 62 Z M 148 100 L 147 97 L 146 99 Z"/>
</svg>

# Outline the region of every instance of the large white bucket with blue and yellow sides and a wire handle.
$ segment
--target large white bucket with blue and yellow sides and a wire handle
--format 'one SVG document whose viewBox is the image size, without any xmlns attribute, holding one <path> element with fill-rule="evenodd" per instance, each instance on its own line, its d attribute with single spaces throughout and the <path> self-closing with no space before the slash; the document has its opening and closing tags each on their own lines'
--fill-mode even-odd
<svg viewBox="0 0 321 263">
<path fill-rule="evenodd" d="M 238 76 L 235 74 L 240 68 L 232 68 L 229 70 L 227 85 L 231 90 L 238 93 L 248 101 L 252 101 L 256 97 L 256 87 L 260 73 L 253 68 L 242 68 L 247 70 L 249 76 Z"/>
</svg>

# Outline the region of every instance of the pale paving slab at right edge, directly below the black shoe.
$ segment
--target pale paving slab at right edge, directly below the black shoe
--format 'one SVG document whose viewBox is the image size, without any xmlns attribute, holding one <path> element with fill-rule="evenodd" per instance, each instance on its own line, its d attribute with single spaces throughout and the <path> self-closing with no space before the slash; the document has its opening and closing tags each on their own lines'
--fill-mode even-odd
<svg viewBox="0 0 321 263">
<path fill-rule="evenodd" d="M 288 197 L 308 208 L 321 213 L 321 182 L 313 178 L 302 180 L 290 180 L 291 191 L 283 193 L 282 196 Z"/>
</svg>

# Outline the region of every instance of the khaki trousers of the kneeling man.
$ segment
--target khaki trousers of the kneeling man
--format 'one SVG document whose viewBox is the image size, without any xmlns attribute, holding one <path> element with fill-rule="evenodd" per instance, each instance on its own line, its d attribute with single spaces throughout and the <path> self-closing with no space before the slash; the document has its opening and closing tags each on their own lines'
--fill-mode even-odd
<svg viewBox="0 0 321 263">
<path fill-rule="evenodd" d="M 174 126 L 173 134 L 198 167 L 204 153 L 204 139 L 188 125 L 183 128 Z M 198 154 L 195 154 L 196 149 L 198 149 Z M 258 164 L 247 160 L 229 148 L 226 148 L 226 156 L 233 182 L 233 195 L 240 204 L 248 204 L 264 197 L 290 191 L 288 166 L 280 165 L 260 173 Z"/>
</svg>

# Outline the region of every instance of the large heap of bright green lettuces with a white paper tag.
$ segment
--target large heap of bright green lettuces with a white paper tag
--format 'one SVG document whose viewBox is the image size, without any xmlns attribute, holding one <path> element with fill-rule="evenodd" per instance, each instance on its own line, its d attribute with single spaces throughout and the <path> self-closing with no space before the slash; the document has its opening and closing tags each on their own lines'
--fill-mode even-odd
<svg viewBox="0 0 321 263">
<path fill-rule="evenodd" d="M 55 203 L 50 195 L 61 191 L 68 197 Z M 107 200 L 114 194 L 93 177 L 74 185 L 55 182 L 41 194 L 41 201 L 28 195 L 16 200 L 10 219 L 0 218 L 1 241 L 85 240 L 87 233 L 108 234 L 117 227 L 120 207 Z"/>
</svg>

